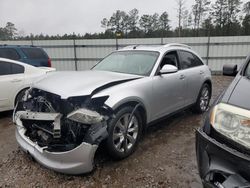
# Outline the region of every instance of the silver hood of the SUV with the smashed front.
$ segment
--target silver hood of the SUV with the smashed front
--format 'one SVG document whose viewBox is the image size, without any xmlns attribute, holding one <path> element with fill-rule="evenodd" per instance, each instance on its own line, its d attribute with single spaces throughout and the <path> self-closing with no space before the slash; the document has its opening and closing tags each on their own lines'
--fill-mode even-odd
<svg viewBox="0 0 250 188">
<path fill-rule="evenodd" d="M 61 71 L 50 73 L 45 79 L 35 83 L 33 87 L 67 99 L 73 96 L 90 95 L 100 87 L 104 89 L 105 86 L 111 87 L 140 77 L 142 76 L 108 71 Z"/>
</svg>

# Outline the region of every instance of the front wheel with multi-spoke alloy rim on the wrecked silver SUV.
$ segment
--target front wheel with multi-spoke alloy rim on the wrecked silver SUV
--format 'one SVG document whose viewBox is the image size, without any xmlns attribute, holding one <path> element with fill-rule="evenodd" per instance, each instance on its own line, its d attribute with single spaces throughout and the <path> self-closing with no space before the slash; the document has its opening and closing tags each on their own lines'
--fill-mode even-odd
<svg viewBox="0 0 250 188">
<path fill-rule="evenodd" d="M 121 108 L 115 118 L 108 123 L 109 136 L 106 140 L 108 154 L 116 160 L 121 160 L 131 155 L 140 140 L 142 134 L 142 118 L 138 111 L 135 111 L 128 124 L 133 107 Z M 128 129 L 126 130 L 126 125 Z"/>
</svg>

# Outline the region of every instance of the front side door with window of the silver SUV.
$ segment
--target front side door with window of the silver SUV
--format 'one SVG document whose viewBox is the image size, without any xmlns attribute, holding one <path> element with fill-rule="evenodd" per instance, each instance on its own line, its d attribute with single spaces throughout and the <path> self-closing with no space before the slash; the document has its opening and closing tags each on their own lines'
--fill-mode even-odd
<svg viewBox="0 0 250 188">
<path fill-rule="evenodd" d="M 162 59 L 158 71 L 164 64 L 171 64 L 179 67 L 179 60 L 176 51 L 168 52 Z M 165 115 L 171 114 L 184 105 L 186 81 L 182 74 L 175 73 L 156 75 L 153 78 L 153 98 L 152 111 L 154 118 L 158 119 Z"/>
</svg>

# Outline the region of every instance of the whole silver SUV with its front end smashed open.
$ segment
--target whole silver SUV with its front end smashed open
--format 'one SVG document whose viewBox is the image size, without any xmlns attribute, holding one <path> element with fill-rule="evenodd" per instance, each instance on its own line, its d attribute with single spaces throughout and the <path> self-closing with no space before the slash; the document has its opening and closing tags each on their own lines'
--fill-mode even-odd
<svg viewBox="0 0 250 188">
<path fill-rule="evenodd" d="M 16 139 L 46 167 L 86 173 L 101 142 L 123 159 L 146 125 L 188 107 L 206 111 L 211 85 L 209 68 L 186 45 L 129 46 L 92 70 L 34 84 L 14 114 Z"/>
</svg>

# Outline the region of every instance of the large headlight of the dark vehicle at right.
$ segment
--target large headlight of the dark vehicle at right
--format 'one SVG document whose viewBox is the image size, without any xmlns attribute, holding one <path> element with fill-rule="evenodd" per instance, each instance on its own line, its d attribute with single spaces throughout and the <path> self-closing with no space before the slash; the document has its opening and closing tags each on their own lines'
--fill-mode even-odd
<svg viewBox="0 0 250 188">
<path fill-rule="evenodd" d="M 212 109 L 211 125 L 224 136 L 250 148 L 250 111 L 220 103 Z"/>
</svg>

